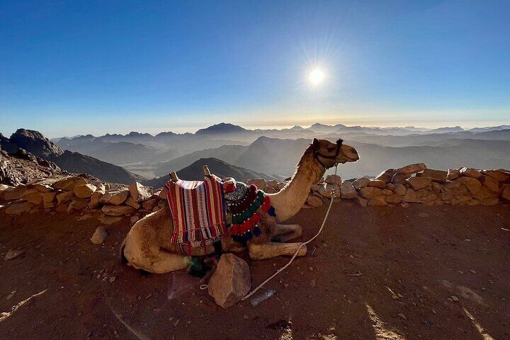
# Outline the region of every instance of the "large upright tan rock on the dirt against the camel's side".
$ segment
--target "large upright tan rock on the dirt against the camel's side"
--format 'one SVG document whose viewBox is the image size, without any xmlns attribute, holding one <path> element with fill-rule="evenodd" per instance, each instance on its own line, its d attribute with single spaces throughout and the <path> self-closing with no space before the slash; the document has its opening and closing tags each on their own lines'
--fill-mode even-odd
<svg viewBox="0 0 510 340">
<path fill-rule="evenodd" d="M 223 308 L 232 307 L 251 288 L 249 266 L 234 254 L 223 254 L 209 280 L 208 292 Z"/>
</svg>

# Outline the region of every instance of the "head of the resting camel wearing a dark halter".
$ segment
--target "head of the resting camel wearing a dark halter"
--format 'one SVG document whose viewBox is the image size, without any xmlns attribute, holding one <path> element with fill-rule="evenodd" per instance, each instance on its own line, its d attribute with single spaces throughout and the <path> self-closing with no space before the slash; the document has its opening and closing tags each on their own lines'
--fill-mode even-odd
<svg viewBox="0 0 510 340">
<path fill-rule="evenodd" d="M 329 142 L 329 140 L 317 140 L 317 138 L 314 138 L 312 148 L 314 150 L 314 157 L 326 169 L 334 166 L 336 162 L 344 164 L 346 162 L 356 162 L 359 159 L 356 149 L 345 145 L 343 140 L 337 140 L 336 144 L 334 144 Z"/>
</svg>

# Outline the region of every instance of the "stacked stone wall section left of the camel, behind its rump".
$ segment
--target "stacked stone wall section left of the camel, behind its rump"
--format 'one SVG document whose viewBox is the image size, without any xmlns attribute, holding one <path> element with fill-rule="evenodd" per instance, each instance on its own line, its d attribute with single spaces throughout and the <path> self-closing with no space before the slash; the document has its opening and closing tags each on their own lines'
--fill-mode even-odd
<svg viewBox="0 0 510 340">
<path fill-rule="evenodd" d="M 37 179 L 26 185 L 0 186 L 2 210 L 8 214 L 21 212 L 101 212 L 99 220 L 111 225 L 132 217 L 136 222 L 149 212 L 161 209 L 166 192 L 152 193 L 151 188 L 138 182 L 130 186 L 115 186 L 93 181 L 86 176 L 60 176 Z"/>
</svg>

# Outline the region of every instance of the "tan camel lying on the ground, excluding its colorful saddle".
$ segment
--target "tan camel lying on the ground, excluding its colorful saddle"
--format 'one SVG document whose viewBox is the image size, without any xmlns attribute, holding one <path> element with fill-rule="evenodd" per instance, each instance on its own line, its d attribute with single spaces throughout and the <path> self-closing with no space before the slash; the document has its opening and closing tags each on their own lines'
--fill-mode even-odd
<svg viewBox="0 0 510 340">
<path fill-rule="evenodd" d="M 353 147 L 336 144 L 328 140 L 314 138 L 297 163 L 295 174 L 278 193 L 270 196 L 276 217 L 259 209 L 261 234 L 246 244 L 234 241 L 232 237 L 221 239 L 223 251 L 244 251 L 248 249 L 251 259 L 268 259 L 275 256 L 293 256 L 300 242 L 285 243 L 297 239 L 302 234 L 300 225 L 282 225 L 280 222 L 295 215 L 307 200 L 313 184 L 318 183 L 325 171 L 337 163 L 356 162 L 358 152 Z M 181 254 L 179 247 L 172 244 L 174 226 L 167 205 L 152 212 L 135 223 L 125 237 L 120 248 L 123 261 L 129 266 L 149 273 L 168 273 L 185 269 L 190 265 L 189 255 L 206 256 L 213 254 L 213 246 L 191 249 L 191 254 Z M 305 256 L 306 246 L 302 246 L 297 256 Z"/>
</svg>

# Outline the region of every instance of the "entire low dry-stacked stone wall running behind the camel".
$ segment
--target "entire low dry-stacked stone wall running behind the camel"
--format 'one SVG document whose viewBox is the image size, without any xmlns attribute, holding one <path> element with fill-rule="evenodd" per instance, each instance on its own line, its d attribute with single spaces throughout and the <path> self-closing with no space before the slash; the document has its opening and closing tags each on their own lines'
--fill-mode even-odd
<svg viewBox="0 0 510 340">
<path fill-rule="evenodd" d="M 266 193 L 276 193 L 287 183 L 252 179 Z M 410 164 L 388 169 L 375 179 L 361 177 L 342 181 L 329 175 L 314 184 L 303 208 L 315 208 L 334 200 L 356 200 L 363 206 L 408 205 L 495 205 L 510 201 L 510 172 L 470 168 L 448 171 L 427 169 Z M 134 223 L 166 204 L 166 190 L 132 183 L 120 186 L 102 183 L 90 176 L 60 176 L 36 179 L 16 187 L 0 185 L 1 210 L 7 214 L 21 212 L 101 212 L 105 225 L 131 217 Z"/>
</svg>

